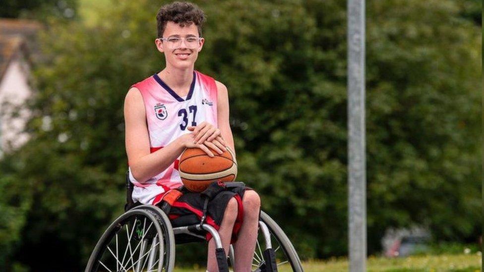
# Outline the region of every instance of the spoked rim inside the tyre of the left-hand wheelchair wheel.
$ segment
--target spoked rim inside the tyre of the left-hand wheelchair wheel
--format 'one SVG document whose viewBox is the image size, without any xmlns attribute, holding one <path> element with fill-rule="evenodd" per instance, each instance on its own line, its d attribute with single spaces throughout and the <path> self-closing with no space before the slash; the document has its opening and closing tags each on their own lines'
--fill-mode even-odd
<svg viewBox="0 0 484 272">
<path fill-rule="evenodd" d="M 121 220 L 106 240 L 93 271 L 165 271 L 166 241 L 159 223 L 146 215 Z"/>
</svg>

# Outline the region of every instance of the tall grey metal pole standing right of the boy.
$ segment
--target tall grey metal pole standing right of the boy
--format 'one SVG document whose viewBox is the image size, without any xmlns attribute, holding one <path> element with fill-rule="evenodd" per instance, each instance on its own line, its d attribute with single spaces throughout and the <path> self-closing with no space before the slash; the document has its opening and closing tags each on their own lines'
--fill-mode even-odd
<svg viewBox="0 0 484 272">
<path fill-rule="evenodd" d="M 365 1 L 348 0 L 349 266 L 366 271 Z"/>
</svg>

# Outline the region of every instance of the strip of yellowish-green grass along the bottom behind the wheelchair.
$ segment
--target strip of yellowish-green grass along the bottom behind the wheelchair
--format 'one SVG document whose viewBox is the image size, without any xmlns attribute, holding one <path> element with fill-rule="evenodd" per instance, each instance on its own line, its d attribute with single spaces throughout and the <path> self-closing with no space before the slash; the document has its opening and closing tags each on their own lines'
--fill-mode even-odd
<svg viewBox="0 0 484 272">
<path fill-rule="evenodd" d="M 348 260 L 346 258 L 330 259 L 327 261 L 303 262 L 305 272 L 321 271 L 348 271 Z M 433 255 L 433 256 L 412 256 L 407 258 L 384 258 L 370 256 L 366 262 L 368 272 L 480 272 L 481 256 L 478 254 L 458 255 Z M 204 272 L 204 268 L 178 268 L 176 272 Z M 289 266 L 279 267 L 279 272 L 291 272 Z"/>
</svg>

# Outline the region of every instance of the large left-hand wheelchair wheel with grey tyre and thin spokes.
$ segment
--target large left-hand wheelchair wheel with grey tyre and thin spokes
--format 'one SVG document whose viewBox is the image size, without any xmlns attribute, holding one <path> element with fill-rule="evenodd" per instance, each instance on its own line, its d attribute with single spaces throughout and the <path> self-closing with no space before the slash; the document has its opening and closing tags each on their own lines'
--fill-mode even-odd
<svg viewBox="0 0 484 272">
<path fill-rule="evenodd" d="M 106 229 L 85 271 L 172 272 L 174 265 L 175 239 L 170 221 L 166 215 L 140 206 Z"/>
</svg>

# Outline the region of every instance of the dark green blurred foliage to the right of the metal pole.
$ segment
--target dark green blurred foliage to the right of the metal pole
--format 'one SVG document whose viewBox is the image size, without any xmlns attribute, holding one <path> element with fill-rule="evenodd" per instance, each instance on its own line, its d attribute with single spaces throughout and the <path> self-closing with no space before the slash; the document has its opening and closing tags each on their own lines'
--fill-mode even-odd
<svg viewBox="0 0 484 272">
<path fill-rule="evenodd" d="M 453 1 L 375 1 L 368 11 L 369 238 L 420 223 L 438 239 L 475 241 L 480 31 Z"/>
</svg>

